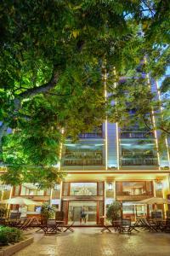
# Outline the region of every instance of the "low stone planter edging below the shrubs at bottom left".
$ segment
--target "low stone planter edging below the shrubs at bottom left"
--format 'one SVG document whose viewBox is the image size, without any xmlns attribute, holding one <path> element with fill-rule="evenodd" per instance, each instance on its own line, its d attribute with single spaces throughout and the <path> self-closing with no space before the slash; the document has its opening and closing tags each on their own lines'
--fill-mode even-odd
<svg viewBox="0 0 170 256">
<path fill-rule="evenodd" d="M 34 241 L 33 237 L 26 238 L 24 241 L 19 241 L 15 243 L 14 245 L 10 245 L 7 247 L 3 247 L 0 249 L 0 256 L 10 256 L 13 255 L 14 253 L 20 251 L 24 247 L 27 247 Z"/>
</svg>

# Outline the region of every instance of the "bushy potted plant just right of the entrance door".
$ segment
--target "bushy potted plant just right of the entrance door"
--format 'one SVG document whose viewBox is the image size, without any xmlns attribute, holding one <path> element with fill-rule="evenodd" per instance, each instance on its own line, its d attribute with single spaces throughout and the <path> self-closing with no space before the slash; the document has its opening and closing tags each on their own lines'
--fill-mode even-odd
<svg viewBox="0 0 170 256">
<path fill-rule="evenodd" d="M 111 224 L 114 220 L 120 219 L 122 217 L 122 204 L 119 201 L 114 201 L 107 208 L 106 217 L 111 221 Z"/>
</svg>

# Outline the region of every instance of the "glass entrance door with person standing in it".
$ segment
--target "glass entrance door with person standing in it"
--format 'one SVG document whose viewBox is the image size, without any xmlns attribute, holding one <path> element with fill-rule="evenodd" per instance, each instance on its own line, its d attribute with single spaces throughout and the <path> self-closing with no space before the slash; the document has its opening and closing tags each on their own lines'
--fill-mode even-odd
<svg viewBox="0 0 170 256">
<path fill-rule="evenodd" d="M 85 219 L 81 219 L 81 212 L 84 212 Z M 74 221 L 75 225 L 97 224 L 97 202 L 96 201 L 70 201 L 69 222 Z"/>
</svg>

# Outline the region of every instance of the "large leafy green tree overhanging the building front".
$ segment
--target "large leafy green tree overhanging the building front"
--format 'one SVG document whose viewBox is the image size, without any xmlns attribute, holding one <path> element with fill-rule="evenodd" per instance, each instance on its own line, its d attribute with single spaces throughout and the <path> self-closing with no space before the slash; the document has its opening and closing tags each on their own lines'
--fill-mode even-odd
<svg viewBox="0 0 170 256">
<path fill-rule="evenodd" d="M 153 45 L 160 53 L 168 38 L 167 10 L 167 1 L 1 1 L 0 159 L 10 166 L 3 181 L 20 170 L 19 183 L 32 180 L 31 168 L 34 177 L 48 169 L 60 178 L 62 140 L 100 125 L 110 108 L 104 69 L 122 75 L 144 54 L 154 63 Z"/>
</svg>

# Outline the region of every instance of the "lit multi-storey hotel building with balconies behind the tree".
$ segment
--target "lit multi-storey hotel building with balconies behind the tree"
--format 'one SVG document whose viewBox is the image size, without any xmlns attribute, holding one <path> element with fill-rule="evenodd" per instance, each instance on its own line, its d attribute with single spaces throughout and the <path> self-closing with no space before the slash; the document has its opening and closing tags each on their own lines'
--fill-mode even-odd
<svg viewBox="0 0 170 256">
<path fill-rule="evenodd" d="M 156 83 L 151 84 L 156 91 Z M 152 113 L 153 121 L 155 121 Z M 22 185 L 1 192 L 1 198 L 26 196 L 34 201 L 50 201 L 57 210 L 65 212 L 65 221 L 80 224 L 80 212 L 86 214 L 86 224 L 100 223 L 106 207 L 113 201 L 122 202 L 124 217 L 152 214 L 153 206 L 137 205 L 152 196 L 170 196 L 170 161 L 165 151 L 158 150 L 159 132 L 140 129 L 138 125 L 121 129 L 105 120 L 90 133 L 79 135 L 77 143 L 70 139 L 61 145 L 60 172 L 65 180 L 50 190 L 38 190 L 34 184 Z M 38 214 L 39 207 L 28 207 L 30 215 Z M 158 205 L 165 217 L 168 208 Z M 170 211 L 170 209 L 169 209 Z"/>
</svg>

